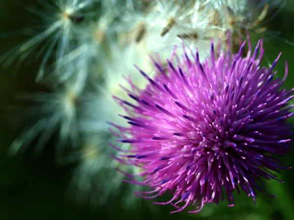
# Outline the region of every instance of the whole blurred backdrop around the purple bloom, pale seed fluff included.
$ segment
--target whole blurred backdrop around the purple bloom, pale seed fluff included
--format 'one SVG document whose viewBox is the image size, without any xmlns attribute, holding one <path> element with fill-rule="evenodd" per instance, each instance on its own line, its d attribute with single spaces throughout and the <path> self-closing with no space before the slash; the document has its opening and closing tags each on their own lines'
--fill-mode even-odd
<svg viewBox="0 0 294 220">
<path fill-rule="evenodd" d="M 224 21 L 212 19 L 209 21 L 215 23 L 211 28 L 203 28 L 208 11 L 196 17 L 194 10 L 216 6 L 204 4 L 204 9 L 196 9 L 194 0 L 140 4 L 131 0 L 127 4 L 123 0 L 73 0 L 77 3 L 71 5 L 72 9 L 86 2 L 75 8 L 76 12 L 64 10 L 63 4 L 57 2 L 68 6 L 70 1 L 0 2 L 0 219 L 294 219 L 292 170 L 278 175 L 285 181 L 283 184 L 267 182 L 267 192 L 277 198 L 259 194 L 254 205 L 252 199 L 241 194 L 236 195 L 233 208 L 223 202 L 208 204 L 197 214 L 183 211 L 169 215 L 172 207 L 136 198 L 133 191 L 138 189 L 122 182 L 125 177 L 113 169 L 119 165 L 108 156 L 116 153 L 107 144 L 114 138 L 104 119 L 122 113 L 109 96 L 120 95 L 117 85 L 125 86 L 121 75 L 131 74 L 134 82 L 144 84 L 132 64 L 151 74 L 147 55 L 156 57 L 158 52 L 163 60 L 170 58 L 173 46 L 180 47 L 181 41 L 193 49 L 198 46 L 203 56 L 211 37 L 215 42 L 224 42 L 230 30 L 236 41 L 234 35 L 239 33 L 234 22 L 224 25 L 218 23 Z M 283 61 L 288 60 L 290 72 L 284 87 L 291 89 L 294 2 L 268 2 L 272 11 L 261 21 L 267 31 L 241 26 L 249 29 L 253 45 L 260 37 L 265 39 L 264 65 L 283 52 L 275 69 L 278 77 L 283 77 Z M 248 8 L 244 14 L 255 18 L 251 23 L 259 16 L 254 10 Z M 172 15 L 177 20 L 169 19 Z M 237 21 L 236 17 L 231 19 Z M 181 23 L 185 25 L 178 25 Z M 38 33 L 43 34 L 29 40 Z M 60 44 L 54 44 L 57 35 Z M 16 45 L 17 49 L 12 49 Z M 30 46 L 35 45 L 30 51 Z M 46 58 L 48 51 L 53 55 Z M 293 153 L 283 158 L 287 166 L 293 166 L 292 156 Z"/>
</svg>

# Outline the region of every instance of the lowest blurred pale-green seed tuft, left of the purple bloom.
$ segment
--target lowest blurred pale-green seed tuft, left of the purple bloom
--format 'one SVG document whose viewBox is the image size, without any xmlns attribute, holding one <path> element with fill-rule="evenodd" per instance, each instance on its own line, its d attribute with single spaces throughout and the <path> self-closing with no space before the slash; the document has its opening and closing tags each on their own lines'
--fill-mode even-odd
<svg viewBox="0 0 294 220">
<path fill-rule="evenodd" d="M 65 158 L 68 163 L 78 162 L 66 193 L 77 204 L 96 206 L 107 201 L 105 179 L 110 170 L 111 158 L 104 139 L 95 133 L 82 135 L 81 150 Z"/>
</svg>

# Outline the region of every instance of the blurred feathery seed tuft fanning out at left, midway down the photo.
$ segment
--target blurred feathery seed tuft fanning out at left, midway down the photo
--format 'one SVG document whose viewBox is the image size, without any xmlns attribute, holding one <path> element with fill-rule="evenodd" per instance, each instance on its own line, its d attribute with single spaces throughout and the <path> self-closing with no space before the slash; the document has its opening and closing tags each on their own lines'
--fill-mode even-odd
<svg viewBox="0 0 294 220">
<path fill-rule="evenodd" d="M 56 157 L 63 156 L 66 146 L 76 147 L 79 142 L 76 108 L 78 98 L 85 86 L 86 74 L 75 72 L 62 85 L 52 88 L 52 92 L 20 95 L 31 106 L 22 110 L 27 124 L 9 148 L 9 154 L 24 152 L 33 140 L 37 140 L 34 150 L 40 154 L 55 132 L 59 132 Z M 54 84 L 55 85 L 55 84 Z"/>
</svg>

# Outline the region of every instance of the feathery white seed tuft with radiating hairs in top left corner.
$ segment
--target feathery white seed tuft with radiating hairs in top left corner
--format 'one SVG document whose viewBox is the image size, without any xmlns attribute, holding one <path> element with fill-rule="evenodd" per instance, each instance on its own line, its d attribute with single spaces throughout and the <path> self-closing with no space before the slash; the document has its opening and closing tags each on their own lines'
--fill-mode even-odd
<svg viewBox="0 0 294 220">
<path fill-rule="evenodd" d="M 31 28 L 36 35 L 22 44 L 12 48 L 0 57 L 3 66 L 11 65 L 17 58 L 24 62 L 30 54 L 36 57 L 43 56 L 36 81 L 43 79 L 49 58 L 56 60 L 57 68 L 65 65 L 60 60 L 72 49 L 72 42 L 76 38 L 75 28 L 85 20 L 84 10 L 95 0 L 56 0 L 39 2 L 39 5 L 30 5 L 27 10 L 36 17 L 36 24 Z"/>
</svg>

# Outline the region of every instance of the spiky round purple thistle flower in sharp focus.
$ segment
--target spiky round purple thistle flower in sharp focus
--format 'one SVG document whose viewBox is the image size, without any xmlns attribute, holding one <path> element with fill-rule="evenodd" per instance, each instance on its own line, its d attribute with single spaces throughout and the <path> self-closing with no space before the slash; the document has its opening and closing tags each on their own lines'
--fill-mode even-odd
<svg viewBox="0 0 294 220">
<path fill-rule="evenodd" d="M 157 68 L 153 79 L 138 68 L 150 82 L 147 87 L 131 85 L 133 91 L 127 90 L 135 104 L 115 97 L 131 125 L 112 124 L 122 137 L 117 141 L 132 145 L 116 159 L 141 168 L 144 181 L 126 174 L 128 182 L 152 189 L 135 192 L 137 196 L 155 198 L 171 192 L 170 201 L 155 202 L 172 204 L 177 210 L 171 213 L 197 204 L 191 211 L 196 213 L 204 203 L 219 203 L 225 195 L 234 206 L 235 190 L 252 196 L 255 203 L 257 191 L 269 195 L 257 182 L 278 180 L 272 171 L 288 169 L 276 158 L 293 145 L 286 119 L 294 114 L 289 111 L 293 106 L 287 107 L 294 89 L 280 89 L 288 75 L 287 62 L 284 78 L 273 79 L 280 54 L 270 68 L 260 67 L 263 40 L 253 55 L 249 36 L 248 42 L 244 58 L 245 42 L 233 55 L 220 48 L 215 55 L 212 43 L 211 57 L 203 64 L 198 52 L 192 59 L 185 53 L 177 68 L 169 60 L 166 68 L 152 60 Z"/>
</svg>

